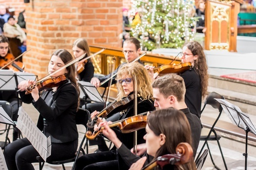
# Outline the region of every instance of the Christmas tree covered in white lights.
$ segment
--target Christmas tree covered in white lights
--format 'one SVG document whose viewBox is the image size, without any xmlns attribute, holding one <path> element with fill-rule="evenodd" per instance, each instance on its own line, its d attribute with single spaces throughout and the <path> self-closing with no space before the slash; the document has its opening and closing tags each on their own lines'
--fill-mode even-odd
<svg viewBox="0 0 256 170">
<path fill-rule="evenodd" d="M 131 14 L 138 12 L 141 23 L 131 28 L 143 50 L 181 48 L 193 40 L 196 21 L 194 0 L 132 0 Z"/>
</svg>

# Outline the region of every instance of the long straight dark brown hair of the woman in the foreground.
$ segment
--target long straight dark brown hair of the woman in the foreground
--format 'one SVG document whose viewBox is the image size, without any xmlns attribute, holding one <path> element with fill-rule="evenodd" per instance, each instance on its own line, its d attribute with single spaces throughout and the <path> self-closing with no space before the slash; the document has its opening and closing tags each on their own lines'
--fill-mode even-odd
<svg viewBox="0 0 256 170">
<path fill-rule="evenodd" d="M 158 149 L 156 158 L 176 153 L 176 147 L 181 142 L 192 145 L 189 121 L 186 115 L 177 109 L 168 108 L 152 112 L 147 118 L 147 124 L 156 136 L 165 136 L 165 143 Z M 174 166 L 174 169 L 194 170 L 193 159 L 187 164 Z"/>
</svg>

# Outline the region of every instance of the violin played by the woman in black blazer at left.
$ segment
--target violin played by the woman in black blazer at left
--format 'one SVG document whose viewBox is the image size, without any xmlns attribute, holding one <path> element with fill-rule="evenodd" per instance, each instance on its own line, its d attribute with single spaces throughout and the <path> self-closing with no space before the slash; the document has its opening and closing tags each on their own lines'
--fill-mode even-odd
<svg viewBox="0 0 256 170">
<path fill-rule="evenodd" d="M 58 76 L 56 78 L 48 78 L 46 80 L 43 80 L 41 82 L 36 82 L 34 85 L 30 85 L 26 88 L 26 93 L 25 94 L 30 94 L 32 92 L 32 89 L 35 88 L 35 86 L 37 86 L 38 90 L 41 91 L 43 89 L 46 88 L 53 88 L 53 87 L 57 87 L 63 83 L 67 82 L 67 79 L 64 75 L 62 76 Z"/>
</svg>

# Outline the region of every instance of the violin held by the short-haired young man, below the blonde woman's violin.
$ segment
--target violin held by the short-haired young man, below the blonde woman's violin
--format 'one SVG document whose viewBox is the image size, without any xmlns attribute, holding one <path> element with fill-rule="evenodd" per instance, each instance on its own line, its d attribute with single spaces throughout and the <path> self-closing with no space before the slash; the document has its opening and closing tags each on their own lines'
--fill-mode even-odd
<svg viewBox="0 0 256 170">
<path fill-rule="evenodd" d="M 148 112 L 146 112 L 148 113 Z M 146 127 L 147 125 L 147 115 L 143 115 L 145 113 L 141 113 L 135 116 L 131 116 L 116 122 L 113 122 L 112 124 L 109 124 L 108 126 L 111 127 L 115 127 L 118 126 L 121 130 L 122 133 L 130 133 L 130 132 L 134 132 L 136 130 L 140 130 Z M 89 140 L 94 140 L 96 138 L 96 136 L 102 132 L 102 130 L 104 129 L 104 127 L 100 127 L 97 131 L 94 131 L 94 133 L 92 133 L 91 131 L 87 131 L 85 136 L 87 139 Z"/>
</svg>

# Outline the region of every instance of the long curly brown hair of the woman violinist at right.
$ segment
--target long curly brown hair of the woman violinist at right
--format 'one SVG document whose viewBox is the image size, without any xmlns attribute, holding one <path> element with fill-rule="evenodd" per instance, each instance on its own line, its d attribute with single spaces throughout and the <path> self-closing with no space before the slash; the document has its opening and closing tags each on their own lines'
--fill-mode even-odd
<svg viewBox="0 0 256 170">
<path fill-rule="evenodd" d="M 195 72 L 200 76 L 201 92 L 202 97 L 204 97 L 207 93 L 209 75 L 203 47 L 196 41 L 188 42 L 184 44 L 184 46 L 188 47 L 188 49 L 192 52 L 193 56 L 198 56 L 194 62 L 193 68 Z"/>
</svg>

